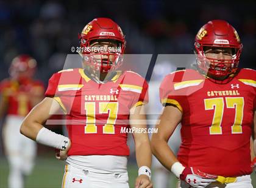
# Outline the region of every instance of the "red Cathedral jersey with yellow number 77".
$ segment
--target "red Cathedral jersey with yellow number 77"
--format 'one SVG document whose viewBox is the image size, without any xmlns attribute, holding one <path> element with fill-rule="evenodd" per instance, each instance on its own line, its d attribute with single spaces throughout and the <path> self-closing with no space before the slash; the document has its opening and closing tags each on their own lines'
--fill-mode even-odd
<svg viewBox="0 0 256 188">
<path fill-rule="evenodd" d="M 255 70 L 241 69 L 227 84 L 217 84 L 196 70 L 180 70 L 160 86 L 162 103 L 182 112 L 183 166 L 222 176 L 249 175 L 250 136 L 255 110 Z"/>
</svg>

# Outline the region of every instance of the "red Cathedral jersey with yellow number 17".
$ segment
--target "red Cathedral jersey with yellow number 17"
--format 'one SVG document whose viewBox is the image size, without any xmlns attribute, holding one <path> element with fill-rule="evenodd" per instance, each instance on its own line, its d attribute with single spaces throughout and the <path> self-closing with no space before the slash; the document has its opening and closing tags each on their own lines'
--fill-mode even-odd
<svg viewBox="0 0 256 188">
<path fill-rule="evenodd" d="M 71 149 L 68 155 L 129 155 L 130 109 L 148 102 L 148 84 L 134 72 L 117 72 L 105 83 L 83 69 L 67 69 L 49 79 L 45 96 L 54 97 L 66 113 Z"/>
</svg>

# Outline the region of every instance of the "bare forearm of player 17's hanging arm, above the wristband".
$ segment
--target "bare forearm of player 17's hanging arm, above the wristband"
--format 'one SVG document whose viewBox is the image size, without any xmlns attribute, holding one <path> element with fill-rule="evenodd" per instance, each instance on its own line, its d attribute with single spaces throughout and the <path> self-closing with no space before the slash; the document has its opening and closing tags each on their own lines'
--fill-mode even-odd
<svg viewBox="0 0 256 188">
<path fill-rule="evenodd" d="M 135 143 L 135 152 L 138 167 L 151 167 L 152 152 L 149 139 L 144 139 L 140 143 Z"/>
</svg>

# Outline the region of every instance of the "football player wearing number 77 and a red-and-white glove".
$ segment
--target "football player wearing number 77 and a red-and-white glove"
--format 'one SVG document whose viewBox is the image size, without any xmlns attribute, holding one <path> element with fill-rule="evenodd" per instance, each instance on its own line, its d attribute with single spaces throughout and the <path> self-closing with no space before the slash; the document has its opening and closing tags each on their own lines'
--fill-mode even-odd
<svg viewBox="0 0 256 188">
<path fill-rule="evenodd" d="M 238 69 L 242 44 L 226 21 L 205 24 L 194 47 L 197 69 L 170 73 L 162 81 L 165 108 L 152 152 L 181 187 L 252 187 L 255 70 Z M 179 123 L 182 144 L 176 158 L 167 141 Z"/>
</svg>

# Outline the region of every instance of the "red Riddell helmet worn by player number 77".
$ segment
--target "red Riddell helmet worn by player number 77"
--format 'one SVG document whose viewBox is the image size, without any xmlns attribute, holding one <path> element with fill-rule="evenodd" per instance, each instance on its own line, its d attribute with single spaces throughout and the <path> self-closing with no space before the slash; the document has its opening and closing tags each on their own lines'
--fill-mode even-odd
<svg viewBox="0 0 256 188">
<path fill-rule="evenodd" d="M 221 78 L 236 72 L 243 45 L 232 25 L 224 20 L 212 20 L 201 27 L 196 35 L 194 47 L 198 68 L 213 78 Z M 230 48 L 232 58 L 206 58 L 207 48 Z"/>
</svg>

